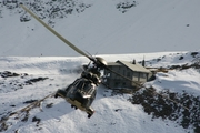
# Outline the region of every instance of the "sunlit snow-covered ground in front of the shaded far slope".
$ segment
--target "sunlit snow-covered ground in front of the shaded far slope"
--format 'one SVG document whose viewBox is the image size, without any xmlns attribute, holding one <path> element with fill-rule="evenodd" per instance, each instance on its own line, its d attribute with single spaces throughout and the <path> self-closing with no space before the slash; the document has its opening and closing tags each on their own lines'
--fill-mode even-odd
<svg viewBox="0 0 200 133">
<path fill-rule="evenodd" d="M 177 55 L 176 53 L 171 53 Z M 138 54 L 102 55 L 106 60 L 132 61 Z M 170 53 L 148 53 L 147 57 L 158 59 L 170 57 Z M 184 55 L 184 54 L 182 54 Z M 199 54 L 198 54 L 199 55 Z M 131 58 L 130 58 L 131 57 Z M 142 59 L 143 54 L 141 54 Z M 184 57 L 184 62 L 190 62 L 190 54 Z M 130 59 L 130 60 L 128 60 Z M 167 60 L 164 60 L 166 62 Z M 169 64 L 171 60 L 169 60 Z M 40 100 L 53 93 L 57 89 L 64 88 L 80 75 L 77 70 L 88 63 L 84 57 L 1 57 L 0 72 L 10 71 L 20 74 L 19 76 L 0 76 L 0 117 L 10 112 L 27 106 L 31 100 Z M 154 65 L 162 65 L 162 61 L 154 62 Z M 26 74 L 27 73 L 27 74 Z M 43 80 L 29 83 L 31 79 L 42 78 Z M 200 73 L 193 69 L 183 71 L 172 70 L 169 73 L 158 73 L 157 80 L 149 84 L 160 89 L 200 94 Z M 96 113 L 91 119 L 80 110 L 71 109 L 63 99 L 48 98 L 42 103 L 42 112 L 39 108 L 29 112 L 28 120 L 24 115 L 13 115 L 7 121 L 8 130 L 4 133 L 37 132 L 37 133 L 183 133 L 193 132 L 192 129 L 183 129 L 174 121 L 152 119 L 143 112 L 141 105 L 128 101 L 130 94 L 111 95 L 111 91 L 100 85 L 92 108 Z M 51 108 L 47 105 L 52 104 Z M 19 119 L 16 119 L 19 116 Z M 23 120 L 23 121 L 22 121 Z"/>
</svg>

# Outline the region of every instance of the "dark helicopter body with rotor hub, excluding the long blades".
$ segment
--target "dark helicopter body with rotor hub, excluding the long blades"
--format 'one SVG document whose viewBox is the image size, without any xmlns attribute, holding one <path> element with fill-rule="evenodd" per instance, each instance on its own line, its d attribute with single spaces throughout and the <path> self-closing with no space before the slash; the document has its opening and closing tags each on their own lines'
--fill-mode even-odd
<svg viewBox="0 0 200 133">
<path fill-rule="evenodd" d="M 100 71 L 107 65 L 107 62 L 102 58 L 94 59 L 93 65 L 87 65 L 80 78 L 66 89 L 59 89 L 54 94 L 54 98 L 61 96 L 66 99 L 71 104 L 71 108 L 87 112 L 88 117 L 91 117 L 94 113 L 91 104 L 96 99 L 97 86 L 101 83 Z"/>
</svg>

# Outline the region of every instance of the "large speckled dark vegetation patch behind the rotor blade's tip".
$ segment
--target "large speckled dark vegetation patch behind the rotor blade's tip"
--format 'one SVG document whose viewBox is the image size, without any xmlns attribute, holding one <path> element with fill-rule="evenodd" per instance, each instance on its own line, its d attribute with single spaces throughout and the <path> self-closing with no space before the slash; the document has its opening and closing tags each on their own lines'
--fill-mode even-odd
<svg viewBox="0 0 200 133">
<path fill-rule="evenodd" d="M 91 4 L 83 3 L 79 0 L 3 0 L 0 3 L 1 9 L 10 10 L 10 14 L 20 13 L 20 21 L 31 20 L 20 4 L 24 4 L 34 12 L 40 19 L 48 21 L 48 24 L 54 27 L 54 19 L 67 18 L 72 13 L 81 13 Z M 0 16 L 3 16 L 0 11 Z"/>
</svg>

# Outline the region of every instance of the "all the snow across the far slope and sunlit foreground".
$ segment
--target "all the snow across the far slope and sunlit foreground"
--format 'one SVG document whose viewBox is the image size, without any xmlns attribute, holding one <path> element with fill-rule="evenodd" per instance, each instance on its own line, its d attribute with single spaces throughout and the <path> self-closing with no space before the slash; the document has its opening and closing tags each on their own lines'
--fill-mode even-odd
<svg viewBox="0 0 200 133">
<path fill-rule="evenodd" d="M 121 1 L 84 1 L 91 7 L 82 13 L 56 19 L 53 29 L 81 50 L 102 57 L 108 62 L 146 59 L 148 66 L 168 68 L 191 64 L 194 58 L 190 51 L 200 54 L 199 0 L 137 0 L 137 6 L 126 13 L 116 9 Z M 27 106 L 26 101 L 40 100 L 67 86 L 80 76 L 81 65 L 89 62 L 34 19 L 20 22 L 22 14 L 14 11 L 0 9 L 0 72 L 20 74 L 13 78 L 0 76 L 0 117 Z M 183 59 L 180 60 L 180 57 Z M 154 81 L 146 85 L 152 85 L 157 91 L 169 89 L 196 96 L 200 94 L 199 70 L 171 70 L 168 73 L 159 72 L 156 76 Z M 26 83 L 37 78 L 47 79 Z M 32 109 L 26 122 L 21 117 L 17 120 L 17 115 L 11 116 L 7 122 L 8 130 L 2 132 L 193 132 L 174 121 L 152 119 L 141 105 L 129 102 L 130 96 L 112 95 L 110 90 L 100 85 L 92 103 L 96 113 L 91 119 L 84 112 L 71 109 L 63 99 L 48 98 L 41 105 L 43 111 Z M 51 108 L 46 108 L 51 103 Z M 40 119 L 40 122 L 32 122 L 33 117 Z"/>
</svg>

